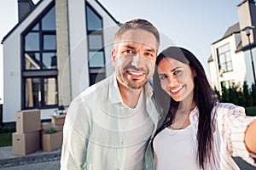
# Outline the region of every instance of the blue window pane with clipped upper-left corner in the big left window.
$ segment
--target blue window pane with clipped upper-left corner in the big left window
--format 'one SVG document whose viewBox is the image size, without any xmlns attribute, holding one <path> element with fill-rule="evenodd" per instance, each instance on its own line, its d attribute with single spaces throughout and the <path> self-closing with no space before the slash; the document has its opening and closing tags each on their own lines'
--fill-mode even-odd
<svg viewBox="0 0 256 170">
<path fill-rule="evenodd" d="M 39 50 L 39 34 L 30 32 L 25 37 L 25 50 L 38 51 Z"/>
</svg>

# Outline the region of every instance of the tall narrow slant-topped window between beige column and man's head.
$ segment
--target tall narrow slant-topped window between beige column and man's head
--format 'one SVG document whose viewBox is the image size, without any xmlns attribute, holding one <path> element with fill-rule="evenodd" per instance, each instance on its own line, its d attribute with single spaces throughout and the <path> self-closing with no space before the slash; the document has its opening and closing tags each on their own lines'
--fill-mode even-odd
<svg viewBox="0 0 256 170">
<path fill-rule="evenodd" d="M 90 85 L 105 76 L 105 54 L 103 49 L 102 17 L 86 4 L 86 26 L 88 39 Z"/>
</svg>

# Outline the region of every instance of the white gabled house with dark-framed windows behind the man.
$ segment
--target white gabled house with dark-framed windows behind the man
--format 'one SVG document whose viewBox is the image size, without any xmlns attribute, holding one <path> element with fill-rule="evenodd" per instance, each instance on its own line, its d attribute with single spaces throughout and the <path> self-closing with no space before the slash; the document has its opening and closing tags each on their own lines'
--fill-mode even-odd
<svg viewBox="0 0 256 170">
<path fill-rule="evenodd" d="M 19 23 L 3 38 L 3 122 L 40 109 L 49 119 L 84 88 L 113 73 L 119 22 L 96 0 L 18 1 Z"/>
</svg>

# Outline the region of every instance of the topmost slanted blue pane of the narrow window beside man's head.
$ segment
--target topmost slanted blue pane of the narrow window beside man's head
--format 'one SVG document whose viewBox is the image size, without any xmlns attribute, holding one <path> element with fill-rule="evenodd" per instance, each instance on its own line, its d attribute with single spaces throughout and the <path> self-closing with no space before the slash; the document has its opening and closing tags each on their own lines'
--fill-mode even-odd
<svg viewBox="0 0 256 170">
<path fill-rule="evenodd" d="M 87 30 L 95 31 L 102 29 L 102 20 L 100 17 L 89 6 L 86 6 L 86 12 Z"/>
</svg>

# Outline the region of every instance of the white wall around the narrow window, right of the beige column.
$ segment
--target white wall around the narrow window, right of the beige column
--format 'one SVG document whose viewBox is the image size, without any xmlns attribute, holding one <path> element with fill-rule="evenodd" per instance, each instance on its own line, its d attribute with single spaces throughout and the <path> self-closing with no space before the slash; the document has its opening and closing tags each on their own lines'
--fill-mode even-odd
<svg viewBox="0 0 256 170">
<path fill-rule="evenodd" d="M 105 61 L 107 64 L 106 76 L 113 73 L 110 51 L 113 45 L 113 37 L 119 26 L 94 0 L 87 1 L 97 13 L 102 16 L 103 38 L 105 44 Z M 89 87 L 88 53 L 86 39 L 85 1 L 68 0 L 68 22 L 70 40 L 70 68 L 72 82 L 72 99 L 81 91 Z"/>
</svg>

